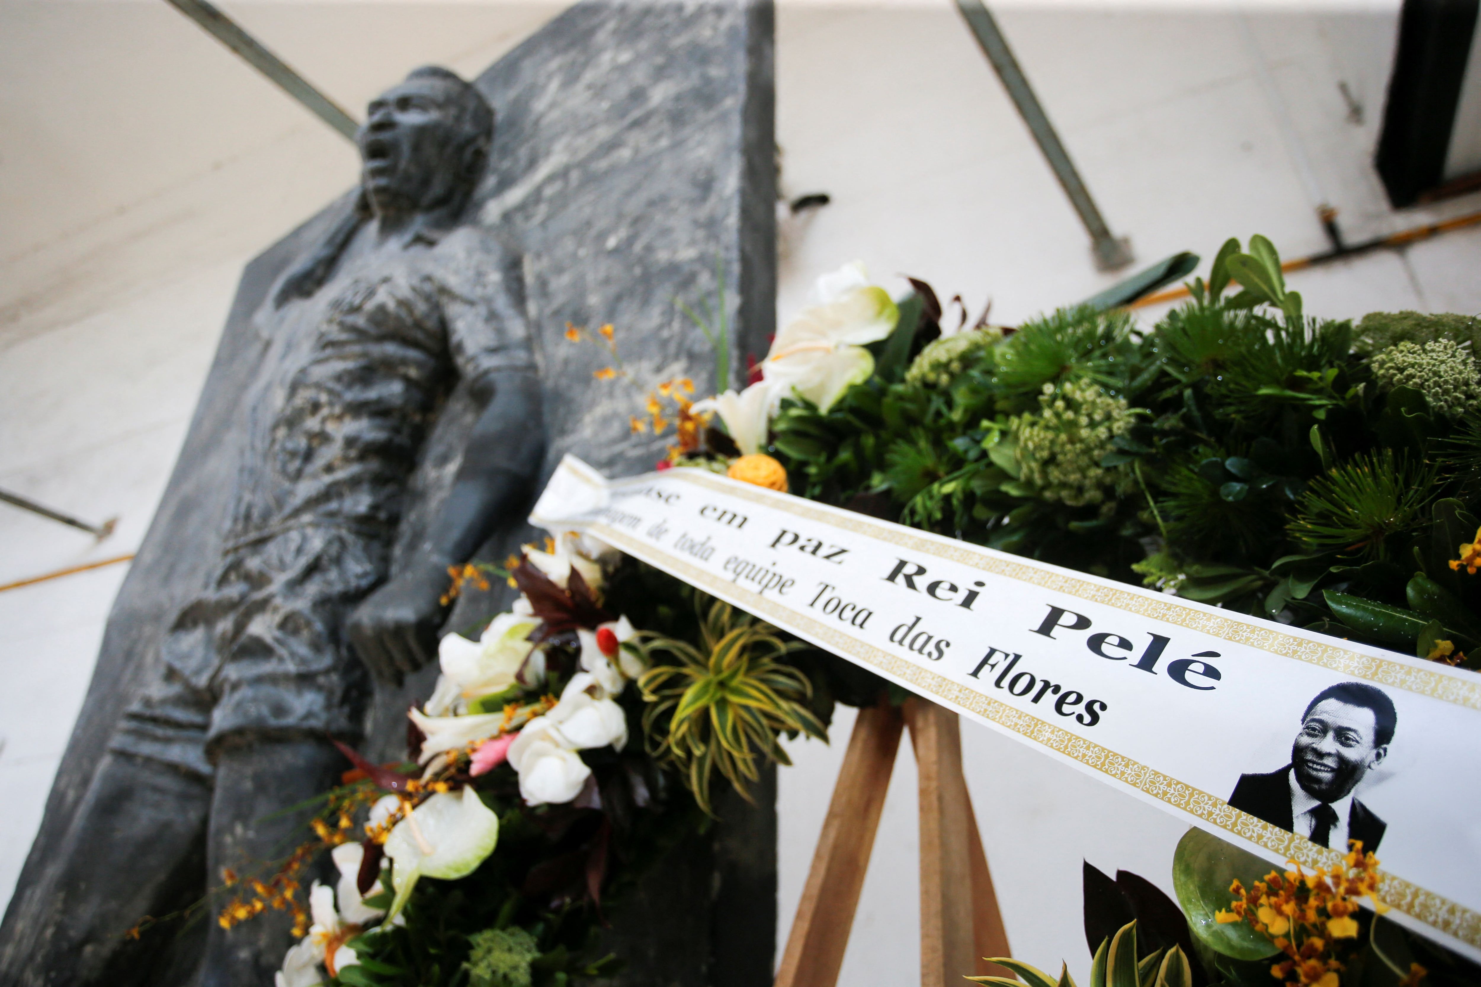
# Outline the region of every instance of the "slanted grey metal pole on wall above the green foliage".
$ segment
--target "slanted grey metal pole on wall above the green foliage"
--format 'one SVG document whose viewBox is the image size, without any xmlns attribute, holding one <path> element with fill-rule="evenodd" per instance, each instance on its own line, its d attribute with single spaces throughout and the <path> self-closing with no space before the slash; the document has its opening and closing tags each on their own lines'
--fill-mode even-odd
<svg viewBox="0 0 1481 987">
<path fill-rule="evenodd" d="M 1003 31 L 998 30 L 998 22 L 982 4 L 982 0 L 957 0 L 957 9 L 967 19 L 967 27 L 976 36 L 977 44 L 982 46 L 982 53 L 988 56 L 988 62 L 992 64 L 992 71 L 1003 80 L 1003 87 L 1009 90 L 1009 98 L 1017 107 L 1023 123 L 1028 124 L 1034 141 L 1038 144 L 1038 149 L 1044 152 L 1049 167 L 1054 172 L 1054 178 L 1059 179 L 1065 194 L 1069 195 L 1069 203 L 1080 213 L 1080 222 L 1086 225 L 1086 231 L 1090 234 L 1096 268 L 1100 271 L 1115 271 L 1131 263 L 1130 241 L 1124 237 L 1118 240 L 1111 235 L 1111 228 L 1106 225 L 1105 218 L 1100 216 L 1100 210 L 1096 209 L 1096 200 L 1090 198 L 1090 189 L 1086 188 L 1084 179 L 1075 170 L 1075 163 L 1069 160 L 1069 151 L 1065 149 L 1059 135 L 1054 133 L 1054 126 L 1049 121 L 1049 115 L 1040 105 L 1038 96 L 1034 95 L 1034 87 L 1028 84 L 1028 77 L 1013 56 L 1013 49 L 1009 47 Z"/>
</svg>

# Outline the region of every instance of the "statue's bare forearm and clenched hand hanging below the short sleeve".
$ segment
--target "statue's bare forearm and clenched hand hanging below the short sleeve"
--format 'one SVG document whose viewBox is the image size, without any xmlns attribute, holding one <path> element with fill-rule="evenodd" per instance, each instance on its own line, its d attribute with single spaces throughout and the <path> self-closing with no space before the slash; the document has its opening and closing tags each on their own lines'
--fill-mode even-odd
<svg viewBox="0 0 1481 987">
<path fill-rule="evenodd" d="M 400 682 L 437 656 L 447 605 L 447 567 L 465 562 L 495 525 L 530 496 L 545 457 L 539 379 L 532 370 L 493 371 L 475 385 L 484 408 L 441 513 L 404 571 L 350 619 L 350 641 L 378 678 Z"/>
</svg>

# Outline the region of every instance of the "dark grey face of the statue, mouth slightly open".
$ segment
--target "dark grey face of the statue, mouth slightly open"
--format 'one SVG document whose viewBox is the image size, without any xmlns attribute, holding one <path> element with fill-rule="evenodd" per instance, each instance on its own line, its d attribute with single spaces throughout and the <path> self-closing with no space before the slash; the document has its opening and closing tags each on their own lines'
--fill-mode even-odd
<svg viewBox="0 0 1481 987">
<path fill-rule="evenodd" d="M 464 185 L 455 93 L 438 78 L 409 78 L 370 102 L 360 127 L 361 183 L 378 215 L 415 213 Z"/>
</svg>

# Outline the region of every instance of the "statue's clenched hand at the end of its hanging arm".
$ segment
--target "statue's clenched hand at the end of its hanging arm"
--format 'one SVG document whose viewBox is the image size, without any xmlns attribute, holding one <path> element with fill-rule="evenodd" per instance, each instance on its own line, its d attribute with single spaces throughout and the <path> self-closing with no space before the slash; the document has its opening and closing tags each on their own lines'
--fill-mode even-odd
<svg viewBox="0 0 1481 987">
<path fill-rule="evenodd" d="M 350 642 L 378 679 L 400 685 L 404 675 L 437 657 L 449 582 L 444 565 L 415 565 L 355 607 Z"/>
</svg>

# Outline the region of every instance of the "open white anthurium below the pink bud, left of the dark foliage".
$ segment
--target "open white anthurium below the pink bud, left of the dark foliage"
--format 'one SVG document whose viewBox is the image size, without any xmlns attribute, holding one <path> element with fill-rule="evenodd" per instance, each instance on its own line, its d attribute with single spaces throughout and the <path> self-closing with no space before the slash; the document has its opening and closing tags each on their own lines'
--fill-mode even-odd
<svg viewBox="0 0 1481 987">
<path fill-rule="evenodd" d="M 422 877 L 458 880 L 478 869 L 499 842 L 499 817 L 471 786 L 440 792 L 395 824 L 385 841 L 395 917 Z"/>
</svg>

